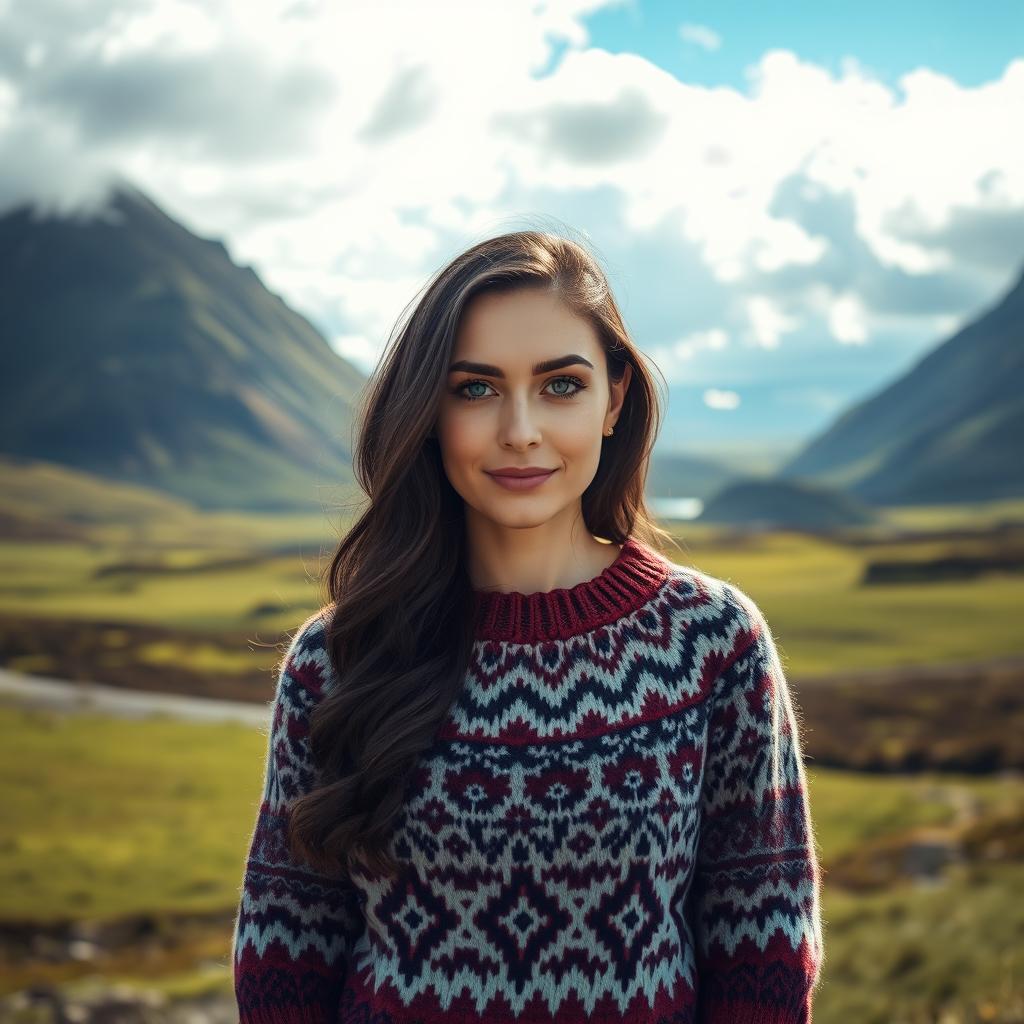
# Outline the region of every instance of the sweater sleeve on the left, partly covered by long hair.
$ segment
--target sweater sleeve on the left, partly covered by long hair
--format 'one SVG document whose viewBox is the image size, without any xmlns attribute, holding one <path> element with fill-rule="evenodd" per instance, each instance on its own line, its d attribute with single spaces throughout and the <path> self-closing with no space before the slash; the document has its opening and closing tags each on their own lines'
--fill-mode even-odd
<svg viewBox="0 0 1024 1024">
<path fill-rule="evenodd" d="M 231 940 L 239 1024 L 334 1024 L 362 928 L 355 886 L 294 861 L 287 844 L 292 803 L 314 781 L 309 714 L 330 672 L 322 637 L 307 621 L 278 677 Z"/>
</svg>

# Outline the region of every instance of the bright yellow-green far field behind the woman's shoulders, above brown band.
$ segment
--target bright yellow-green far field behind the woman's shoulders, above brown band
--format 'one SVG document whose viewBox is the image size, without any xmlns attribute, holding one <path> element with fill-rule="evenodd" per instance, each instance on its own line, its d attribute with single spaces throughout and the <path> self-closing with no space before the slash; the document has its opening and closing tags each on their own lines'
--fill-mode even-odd
<svg viewBox="0 0 1024 1024">
<path fill-rule="evenodd" d="M 254 527 L 255 528 L 255 527 Z M 989 571 L 969 580 L 865 584 L 872 558 L 894 544 L 856 544 L 802 534 L 737 540 L 679 530 L 668 557 L 741 587 L 772 625 L 786 669 L 796 675 L 945 665 L 1022 653 L 1019 617 L 1024 572 Z M 134 623 L 216 635 L 281 633 L 326 600 L 321 578 L 329 537 L 297 542 L 287 554 L 258 546 L 208 550 L 189 543 L 146 551 L 126 542 L 0 542 L 0 617 Z M 1024 530 L 1014 538 L 1024 547 Z M 989 549 L 1006 547 L 997 537 Z M 921 559 L 983 540 L 904 542 L 903 557 Z M 208 657 L 188 644 L 170 653 L 189 667 Z M 9 668 L 45 672 L 38 662 Z"/>
</svg>

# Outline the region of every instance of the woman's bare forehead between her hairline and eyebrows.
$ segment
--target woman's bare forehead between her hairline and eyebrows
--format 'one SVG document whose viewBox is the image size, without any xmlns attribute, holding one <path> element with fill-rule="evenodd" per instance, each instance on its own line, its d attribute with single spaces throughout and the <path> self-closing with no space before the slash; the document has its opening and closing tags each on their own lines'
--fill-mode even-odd
<svg viewBox="0 0 1024 1024">
<path fill-rule="evenodd" d="M 554 293 L 528 289 L 474 296 L 463 310 L 453 358 L 486 358 L 516 369 L 566 352 L 597 366 L 601 343 L 593 325 Z"/>
</svg>

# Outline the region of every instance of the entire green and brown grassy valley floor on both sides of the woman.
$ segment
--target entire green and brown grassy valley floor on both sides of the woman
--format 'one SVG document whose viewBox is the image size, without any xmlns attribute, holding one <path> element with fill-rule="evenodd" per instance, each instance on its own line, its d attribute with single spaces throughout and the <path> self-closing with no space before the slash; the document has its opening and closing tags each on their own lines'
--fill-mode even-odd
<svg viewBox="0 0 1024 1024">
<path fill-rule="evenodd" d="M 323 573 L 346 522 L 329 499 L 321 516 L 205 515 L 41 472 L 12 474 L 0 498 L 14 524 L 0 542 L 3 666 L 272 696 L 287 635 L 326 601 Z M 1020 676 L 911 680 L 915 668 L 1024 655 L 1022 523 L 1024 503 L 1007 502 L 893 510 L 884 528 L 827 537 L 672 524 L 671 559 L 762 607 L 805 711 L 825 883 L 817 1024 L 1024 1021 Z M 950 556 L 978 565 L 949 579 Z M 872 565 L 894 560 L 920 570 L 913 582 L 870 582 Z M 860 672 L 890 676 L 868 685 Z M 836 674 L 847 685 L 828 690 Z M 11 700 L 0 702 L 0 730 L 2 991 L 125 981 L 229 996 L 265 734 Z M 970 732 L 978 757 L 965 763 L 993 770 L 935 771 L 958 762 L 932 764 L 920 750 L 928 770 L 848 770 L 889 757 L 894 740 L 920 745 L 923 730 L 936 750 Z M 102 936 L 89 954 L 40 955 L 28 937 L 67 945 L 76 922 Z"/>
</svg>

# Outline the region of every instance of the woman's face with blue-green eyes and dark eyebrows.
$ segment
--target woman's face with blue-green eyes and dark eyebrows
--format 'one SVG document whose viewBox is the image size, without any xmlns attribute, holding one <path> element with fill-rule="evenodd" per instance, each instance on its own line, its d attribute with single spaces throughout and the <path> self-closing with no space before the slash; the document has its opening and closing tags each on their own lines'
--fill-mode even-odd
<svg viewBox="0 0 1024 1024">
<path fill-rule="evenodd" d="M 551 361 L 559 366 L 543 366 Z M 444 471 L 467 514 L 522 528 L 578 509 L 631 370 L 609 388 L 594 328 L 553 293 L 476 296 L 463 313 L 437 419 Z M 553 472 L 511 489 L 490 475 L 507 467 Z"/>
</svg>

